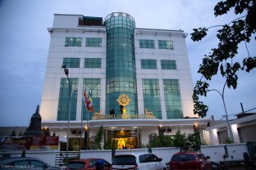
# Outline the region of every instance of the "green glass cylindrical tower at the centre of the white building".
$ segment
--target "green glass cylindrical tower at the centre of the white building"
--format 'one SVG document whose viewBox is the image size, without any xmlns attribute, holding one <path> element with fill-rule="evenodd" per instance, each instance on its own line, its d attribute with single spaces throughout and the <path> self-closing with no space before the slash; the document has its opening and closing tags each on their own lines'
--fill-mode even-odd
<svg viewBox="0 0 256 170">
<path fill-rule="evenodd" d="M 107 68 L 106 113 L 115 110 L 121 114 L 118 96 L 126 93 L 130 104 L 127 114 L 138 114 L 136 67 L 135 67 L 135 20 L 129 14 L 113 12 L 106 16 Z"/>
</svg>

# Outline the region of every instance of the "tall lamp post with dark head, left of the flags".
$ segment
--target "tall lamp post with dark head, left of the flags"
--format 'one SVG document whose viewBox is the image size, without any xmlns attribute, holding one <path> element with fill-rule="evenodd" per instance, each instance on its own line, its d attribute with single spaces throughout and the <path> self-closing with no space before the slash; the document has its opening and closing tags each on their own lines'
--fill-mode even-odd
<svg viewBox="0 0 256 170">
<path fill-rule="evenodd" d="M 69 131 L 70 131 L 70 120 L 71 120 L 71 82 L 68 78 L 68 69 L 64 68 L 64 72 L 66 74 L 66 78 L 68 81 L 69 87 L 69 108 L 68 108 L 68 118 L 67 118 L 67 132 L 66 132 L 66 161 L 68 163 L 68 145 L 69 145 Z"/>
</svg>

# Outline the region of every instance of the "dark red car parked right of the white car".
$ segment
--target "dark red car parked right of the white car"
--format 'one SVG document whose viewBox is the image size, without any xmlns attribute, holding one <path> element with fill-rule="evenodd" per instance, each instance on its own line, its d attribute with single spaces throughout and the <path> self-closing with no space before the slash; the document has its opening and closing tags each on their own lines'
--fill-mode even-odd
<svg viewBox="0 0 256 170">
<path fill-rule="evenodd" d="M 201 152 L 179 152 L 173 154 L 169 162 L 169 169 L 196 169 L 196 170 L 210 170 L 211 163 L 208 161 L 209 156 L 204 156 Z"/>
</svg>

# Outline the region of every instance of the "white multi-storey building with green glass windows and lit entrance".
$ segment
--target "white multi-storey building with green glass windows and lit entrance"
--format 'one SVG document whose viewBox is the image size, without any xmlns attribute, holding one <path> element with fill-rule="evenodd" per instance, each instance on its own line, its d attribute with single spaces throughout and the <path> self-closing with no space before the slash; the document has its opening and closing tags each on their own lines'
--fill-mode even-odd
<svg viewBox="0 0 256 170">
<path fill-rule="evenodd" d="M 104 20 L 56 14 L 48 32 L 51 42 L 40 105 L 42 126 L 65 142 L 71 86 L 71 150 L 77 150 L 81 129 L 87 126 L 89 136 L 103 126 L 103 145 L 114 139 L 118 149 L 147 145 L 149 134 L 158 134 L 159 129 L 166 135 L 178 129 L 199 131 L 204 140 L 209 120 L 193 114 L 183 31 L 135 28 L 132 16 L 113 12 Z M 64 67 L 69 70 L 69 81 Z M 86 109 L 84 92 L 91 92 L 98 119 Z M 122 119 L 123 107 L 117 102 L 122 94 L 130 98 L 128 119 Z"/>
</svg>

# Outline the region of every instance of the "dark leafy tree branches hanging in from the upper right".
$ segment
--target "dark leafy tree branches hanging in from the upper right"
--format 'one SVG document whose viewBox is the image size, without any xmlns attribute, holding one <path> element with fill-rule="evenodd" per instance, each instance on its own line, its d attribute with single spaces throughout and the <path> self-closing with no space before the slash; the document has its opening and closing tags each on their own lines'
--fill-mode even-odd
<svg viewBox="0 0 256 170">
<path fill-rule="evenodd" d="M 209 55 L 204 55 L 202 64 L 199 65 L 198 73 L 202 77 L 197 81 L 194 92 L 194 114 L 205 117 L 208 112 L 208 106 L 199 101 L 199 96 L 207 96 L 209 84 L 218 71 L 224 77 L 225 84 L 229 88 L 237 87 L 238 71 L 246 71 L 256 67 L 256 56 L 250 56 L 247 43 L 255 35 L 256 29 L 256 2 L 255 0 L 226 0 L 218 2 L 214 7 L 214 15 L 222 16 L 231 9 L 235 8 L 235 15 L 238 16 L 226 25 L 215 25 L 209 28 L 203 27 L 193 29 L 192 40 L 200 41 L 207 35 L 208 29 L 221 27 L 217 30 L 218 46 L 213 48 Z M 256 37 L 254 37 L 256 39 Z M 248 56 L 243 56 L 244 60 L 239 62 L 237 58 L 238 46 L 245 42 Z M 255 54 L 254 54 L 255 55 Z M 206 81 L 203 80 L 206 79 Z"/>
</svg>

